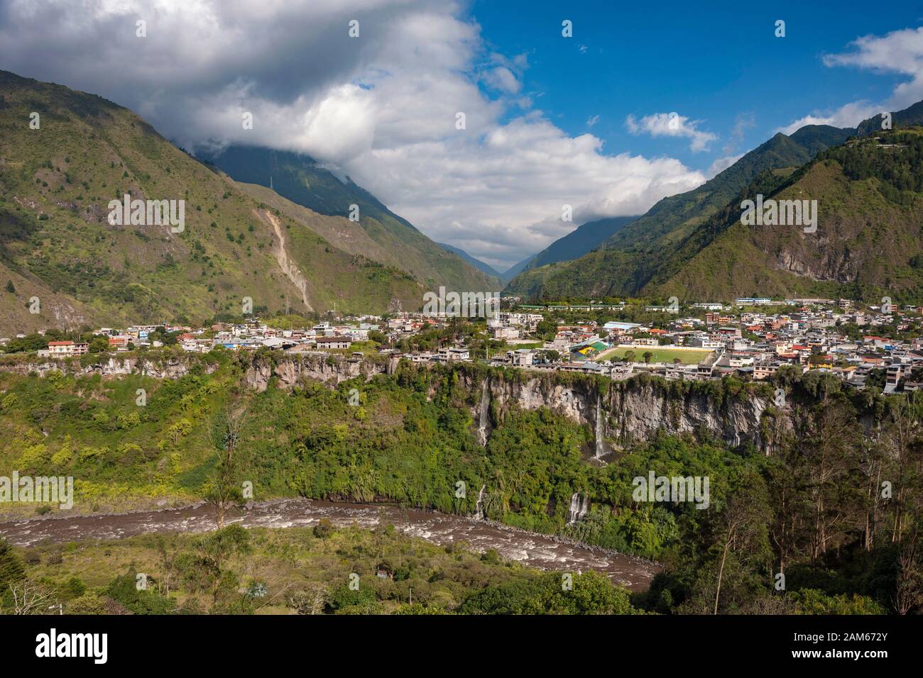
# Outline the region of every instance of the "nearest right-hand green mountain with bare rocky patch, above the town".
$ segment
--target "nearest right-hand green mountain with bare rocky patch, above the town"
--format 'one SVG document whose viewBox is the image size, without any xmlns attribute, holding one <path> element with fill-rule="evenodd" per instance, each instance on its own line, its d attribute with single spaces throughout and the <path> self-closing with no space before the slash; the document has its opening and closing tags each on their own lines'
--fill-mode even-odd
<svg viewBox="0 0 923 678">
<path fill-rule="evenodd" d="M 741 202 L 817 200 L 817 231 L 744 225 Z M 827 149 L 763 174 L 665 256 L 642 292 L 680 299 L 823 296 L 923 300 L 923 128 Z"/>
</svg>

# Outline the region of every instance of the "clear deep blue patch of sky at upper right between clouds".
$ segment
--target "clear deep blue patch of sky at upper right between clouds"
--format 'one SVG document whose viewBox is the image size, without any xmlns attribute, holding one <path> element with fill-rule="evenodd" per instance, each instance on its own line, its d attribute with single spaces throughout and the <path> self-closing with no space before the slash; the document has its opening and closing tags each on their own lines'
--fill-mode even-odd
<svg viewBox="0 0 923 678">
<path fill-rule="evenodd" d="M 851 0 L 477 0 L 470 12 L 497 51 L 527 54 L 523 91 L 533 93 L 535 107 L 570 135 L 591 131 L 605 140 L 606 152 L 668 155 L 706 171 L 716 158 L 753 149 L 807 113 L 830 112 L 848 101 L 886 100 L 901 77 L 830 67 L 822 59 L 843 53 L 859 36 L 923 23 L 923 6 L 886 7 L 870 11 L 869 3 Z M 573 23 L 570 39 L 561 37 L 565 18 Z M 785 20 L 785 38 L 774 35 L 777 19 Z M 718 139 L 708 150 L 692 152 L 681 137 L 629 133 L 629 114 L 652 112 L 701 121 L 698 128 Z"/>
</svg>

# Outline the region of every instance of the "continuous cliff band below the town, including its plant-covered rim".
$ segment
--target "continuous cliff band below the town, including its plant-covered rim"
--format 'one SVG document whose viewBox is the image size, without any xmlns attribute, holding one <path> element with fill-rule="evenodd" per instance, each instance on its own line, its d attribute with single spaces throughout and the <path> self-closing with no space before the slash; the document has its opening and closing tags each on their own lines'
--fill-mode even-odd
<svg viewBox="0 0 923 678">
<path fill-rule="evenodd" d="M 182 354 L 173 351 L 85 355 L 69 359 L 6 356 L 0 371 L 27 375 L 146 375 L 176 379 L 187 374 L 210 374 L 223 360 L 234 360 L 248 388 L 294 388 L 307 382 L 335 387 L 362 376 L 397 375 L 401 370 L 426 370 L 433 375 L 457 375 L 466 395 L 481 439 L 486 442 L 497 422 L 513 408 L 555 410 L 574 422 L 593 428 L 602 458 L 613 449 L 663 434 L 710 435 L 729 446 L 750 444 L 766 454 L 773 451 L 778 435 L 797 428 L 794 410 L 773 403 L 767 384 L 744 384 L 737 380 L 666 382 L 638 375 L 625 381 L 605 377 L 546 373 L 483 365 L 413 364 L 395 357 L 358 358 L 342 354 L 318 355 L 258 351 L 214 357 L 213 354 Z M 431 386 L 430 397 L 435 393 Z M 605 450 L 602 446 L 605 446 Z"/>
</svg>

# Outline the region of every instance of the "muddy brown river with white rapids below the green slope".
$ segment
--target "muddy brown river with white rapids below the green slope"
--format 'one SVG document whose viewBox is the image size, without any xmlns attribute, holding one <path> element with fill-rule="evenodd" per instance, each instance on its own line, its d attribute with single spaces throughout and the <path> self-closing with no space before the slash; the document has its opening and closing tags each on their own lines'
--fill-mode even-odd
<svg viewBox="0 0 923 678">
<path fill-rule="evenodd" d="M 228 518 L 245 528 L 316 525 L 328 518 L 336 526 L 374 528 L 392 524 L 402 532 L 439 545 L 464 541 L 475 551 L 496 549 L 511 560 L 561 572 L 596 570 L 629 589 L 647 589 L 658 565 L 622 553 L 469 517 L 390 505 L 344 504 L 313 499 L 282 499 L 251 506 Z M 210 506 L 139 511 L 104 516 L 35 518 L 0 522 L 0 535 L 16 546 L 65 541 L 116 540 L 156 532 L 215 529 Z"/>
</svg>

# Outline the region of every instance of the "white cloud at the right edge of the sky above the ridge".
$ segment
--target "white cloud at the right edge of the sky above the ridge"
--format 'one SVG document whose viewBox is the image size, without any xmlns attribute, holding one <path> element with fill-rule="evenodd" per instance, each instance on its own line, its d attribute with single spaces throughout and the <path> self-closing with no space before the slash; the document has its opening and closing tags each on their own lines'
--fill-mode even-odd
<svg viewBox="0 0 923 678">
<path fill-rule="evenodd" d="M 804 125 L 855 127 L 884 111 L 898 111 L 923 100 L 923 27 L 893 30 L 882 36 L 866 35 L 847 45 L 842 54 L 825 54 L 823 64 L 868 68 L 879 73 L 898 73 L 908 78 L 894 88 L 886 101 L 850 101 L 832 111 L 814 111 L 781 131 L 791 134 Z"/>
</svg>

